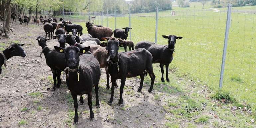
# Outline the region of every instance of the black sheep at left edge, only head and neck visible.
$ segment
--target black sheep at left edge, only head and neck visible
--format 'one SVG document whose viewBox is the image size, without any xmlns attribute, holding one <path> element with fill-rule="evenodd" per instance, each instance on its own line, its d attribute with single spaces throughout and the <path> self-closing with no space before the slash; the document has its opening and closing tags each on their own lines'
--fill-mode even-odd
<svg viewBox="0 0 256 128">
<path fill-rule="evenodd" d="M 21 56 L 23 58 L 26 56 L 25 51 L 21 47 L 23 45 L 24 44 L 13 43 L 9 45 L 8 48 L 0 52 L 0 74 L 2 73 L 2 65 L 4 64 L 4 67 L 6 67 L 6 61 L 8 59 L 13 56 Z"/>
</svg>

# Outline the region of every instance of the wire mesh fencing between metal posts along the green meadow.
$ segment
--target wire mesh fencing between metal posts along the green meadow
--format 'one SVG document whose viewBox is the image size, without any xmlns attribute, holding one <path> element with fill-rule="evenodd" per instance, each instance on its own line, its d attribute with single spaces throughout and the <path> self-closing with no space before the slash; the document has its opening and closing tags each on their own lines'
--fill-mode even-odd
<svg viewBox="0 0 256 128">
<path fill-rule="evenodd" d="M 156 10 L 156 9 L 155 9 Z M 155 42 L 156 11 L 130 14 L 131 38 L 135 44 L 147 40 Z M 232 9 L 233 10 L 233 9 Z M 114 29 L 129 27 L 129 10 L 108 11 L 111 15 L 91 15 L 94 24 Z M 218 89 L 223 54 L 227 12 L 203 10 L 161 10 L 158 13 L 157 43 L 167 45 L 162 35 L 182 36 L 175 44 L 174 60 L 170 66 L 198 78 L 213 90 Z M 89 14 L 65 16 L 77 23 L 88 21 Z M 223 90 L 238 100 L 256 107 L 256 18 L 254 11 L 231 13 L 231 27 L 225 63 Z M 81 23 L 83 24 L 83 23 Z M 83 25 L 85 27 L 85 25 Z M 86 33 L 87 29 L 83 31 Z M 129 36 L 128 36 L 129 37 Z"/>
</svg>

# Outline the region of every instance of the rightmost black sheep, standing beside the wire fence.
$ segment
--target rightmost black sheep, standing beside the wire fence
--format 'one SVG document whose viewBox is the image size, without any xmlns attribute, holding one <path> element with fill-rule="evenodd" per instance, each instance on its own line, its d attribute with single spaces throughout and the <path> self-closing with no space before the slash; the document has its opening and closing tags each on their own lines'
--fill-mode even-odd
<svg viewBox="0 0 256 128">
<path fill-rule="evenodd" d="M 149 41 L 141 41 L 136 44 L 135 49 L 145 48 L 153 56 L 153 63 L 160 63 L 161 68 L 161 81 L 164 82 L 164 65 L 166 69 L 166 81 L 170 81 L 168 78 L 168 66 L 173 60 L 174 45 L 176 39 L 182 39 L 182 37 L 177 37 L 175 35 L 163 35 L 164 38 L 168 39 L 168 45 L 158 45 Z"/>
</svg>

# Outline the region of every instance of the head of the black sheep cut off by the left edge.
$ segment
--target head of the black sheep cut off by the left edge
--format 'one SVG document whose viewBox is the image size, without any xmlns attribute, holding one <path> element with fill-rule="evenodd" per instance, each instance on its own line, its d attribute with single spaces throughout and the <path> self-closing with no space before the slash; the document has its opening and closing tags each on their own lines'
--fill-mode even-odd
<svg viewBox="0 0 256 128">
<path fill-rule="evenodd" d="M 21 47 L 23 45 L 24 44 L 17 44 L 17 43 L 11 44 L 8 47 L 8 49 L 11 50 L 11 56 L 21 56 L 21 57 L 24 58 L 26 56 L 26 53 L 25 53 L 25 51 Z"/>
</svg>

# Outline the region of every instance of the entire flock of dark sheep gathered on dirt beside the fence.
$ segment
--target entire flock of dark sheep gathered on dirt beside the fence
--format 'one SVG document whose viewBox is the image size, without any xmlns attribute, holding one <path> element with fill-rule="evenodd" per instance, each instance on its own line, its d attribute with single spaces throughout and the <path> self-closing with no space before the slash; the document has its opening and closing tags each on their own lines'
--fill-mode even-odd
<svg viewBox="0 0 256 128">
<path fill-rule="evenodd" d="M 27 17 L 19 18 L 20 23 L 27 25 L 29 19 Z M 116 29 L 114 32 L 109 27 L 101 25 L 93 25 L 90 22 L 85 22 L 88 33 L 83 34 L 81 25 L 72 24 L 70 21 L 60 19 L 61 23 L 56 23 L 56 18 L 34 19 L 34 22 L 39 25 L 41 22 L 44 25 L 45 37 L 37 37 L 38 45 L 42 47 L 42 52 L 46 64 L 51 68 L 54 80 L 53 90 L 61 85 L 61 71 L 66 74 L 67 87 L 74 99 L 75 117 L 74 124 L 78 123 L 78 103 L 77 95 L 80 95 L 80 103 L 83 104 L 83 94 L 88 94 L 88 105 L 90 108 L 90 119 L 94 118 L 92 111 L 92 89 L 95 86 L 96 107 L 100 107 L 98 99 L 98 84 L 100 80 L 100 68 L 105 68 L 107 75 L 106 88 L 109 89 L 109 74 L 111 76 L 111 97 L 109 104 L 113 102 L 114 90 L 117 87 L 116 79 L 121 79 L 119 106 L 123 103 L 123 89 L 127 77 L 140 76 L 140 86 L 138 91 L 142 90 L 144 76 L 149 74 L 151 85 L 148 92 L 153 89 L 155 75 L 153 72 L 152 63 L 160 63 L 161 81 L 164 82 L 164 65 L 166 68 L 166 81 L 168 78 L 168 66 L 173 60 L 176 39 L 181 39 L 175 35 L 165 36 L 168 39 L 167 45 L 158 45 L 149 41 L 141 41 L 134 44 L 128 41 L 129 27 Z M 55 36 L 53 35 L 54 30 Z M 72 32 L 72 34 L 69 34 Z M 114 36 L 113 36 L 114 34 Z M 79 36 L 80 35 L 80 36 Z M 47 39 L 47 36 L 49 39 Z M 59 45 L 54 46 L 55 50 L 51 50 L 46 42 L 47 40 L 58 39 Z M 101 41 L 107 41 L 102 42 Z M 24 44 L 11 44 L 0 54 L 0 65 L 6 66 L 7 59 L 12 56 L 25 57 L 26 53 L 21 46 Z M 126 47 L 130 51 L 126 51 Z M 119 52 L 119 47 L 124 47 L 125 52 Z M 40 56 L 41 56 L 40 54 Z M 2 68 L 0 67 L 0 74 Z M 57 78 L 57 83 L 56 83 Z"/>
</svg>

